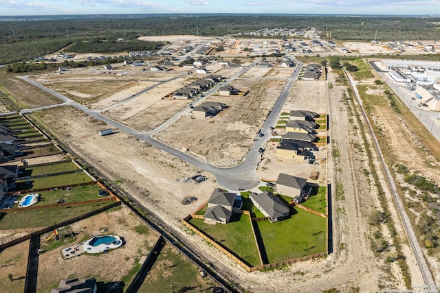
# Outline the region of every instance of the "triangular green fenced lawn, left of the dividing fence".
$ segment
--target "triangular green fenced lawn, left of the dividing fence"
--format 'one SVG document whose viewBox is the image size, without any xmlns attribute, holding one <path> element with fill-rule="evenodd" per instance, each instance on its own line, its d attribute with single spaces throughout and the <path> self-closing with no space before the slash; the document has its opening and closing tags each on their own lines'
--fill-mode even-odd
<svg viewBox="0 0 440 293">
<path fill-rule="evenodd" d="M 251 266 L 261 265 L 248 215 L 234 214 L 228 224 L 210 225 L 203 223 L 203 219 L 191 219 L 190 223 Z"/>
</svg>

